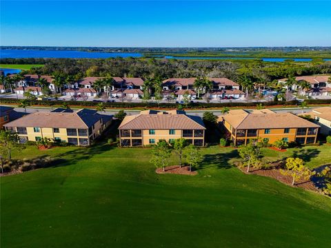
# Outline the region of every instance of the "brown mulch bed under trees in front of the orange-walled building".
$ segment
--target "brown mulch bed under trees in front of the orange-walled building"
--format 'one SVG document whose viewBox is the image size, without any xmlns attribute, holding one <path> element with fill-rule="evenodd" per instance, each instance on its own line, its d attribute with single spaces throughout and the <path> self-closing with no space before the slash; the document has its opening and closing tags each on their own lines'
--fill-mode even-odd
<svg viewBox="0 0 331 248">
<path fill-rule="evenodd" d="M 292 176 L 285 176 L 281 174 L 280 169 L 278 168 L 270 168 L 270 169 L 254 169 L 250 168 L 250 172 L 247 173 L 247 167 L 239 167 L 239 169 L 245 174 L 254 174 L 259 176 L 268 176 L 279 180 L 281 183 L 285 183 L 286 185 L 290 185 L 292 187 L 301 187 L 303 189 L 308 189 L 313 192 L 319 192 L 319 189 L 315 187 L 314 183 L 311 180 L 301 180 L 296 181 L 294 185 L 292 185 Z"/>
</svg>

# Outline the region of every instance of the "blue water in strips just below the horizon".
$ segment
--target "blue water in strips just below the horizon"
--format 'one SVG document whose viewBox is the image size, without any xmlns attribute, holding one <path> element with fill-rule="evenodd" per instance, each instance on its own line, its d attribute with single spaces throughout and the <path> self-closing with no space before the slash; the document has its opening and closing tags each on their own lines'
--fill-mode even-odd
<svg viewBox="0 0 331 248">
<path fill-rule="evenodd" d="M 230 53 L 229 53 L 230 54 Z M 72 58 L 72 59 L 106 59 L 116 57 L 143 56 L 137 52 L 82 52 L 82 51 L 61 51 L 61 50 L 0 50 L 0 58 Z M 155 56 L 158 57 L 158 56 Z M 218 57 L 189 57 L 189 56 L 165 56 L 166 59 L 256 59 L 256 58 L 232 58 L 227 56 Z M 283 62 L 285 58 L 263 58 L 268 62 Z M 312 59 L 294 59 L 294 61 L 311 61 Z M 331 61 L 331 59 L 324 59 Z"/>
</svg>

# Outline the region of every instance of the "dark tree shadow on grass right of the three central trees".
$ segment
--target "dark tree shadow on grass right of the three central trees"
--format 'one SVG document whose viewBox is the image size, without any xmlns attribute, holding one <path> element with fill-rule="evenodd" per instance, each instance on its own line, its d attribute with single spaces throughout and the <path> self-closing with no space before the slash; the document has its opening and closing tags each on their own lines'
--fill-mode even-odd
<svg viewBox="0 0 331 248">
<path fill-rule="evenodd" d="M 237 149 L 232 149 L 230 152 L 219 154 L 205 154 L 205 156 L 203 156 L 203 162 L 199 165 L 198 169 L 207 169 L 211 167 L 217 167 L 217 169 L 230 169 L 231 167 L 234 167 L 234 165 L 230 163 L 230 160 L 237 157 Z"/>
</svg>

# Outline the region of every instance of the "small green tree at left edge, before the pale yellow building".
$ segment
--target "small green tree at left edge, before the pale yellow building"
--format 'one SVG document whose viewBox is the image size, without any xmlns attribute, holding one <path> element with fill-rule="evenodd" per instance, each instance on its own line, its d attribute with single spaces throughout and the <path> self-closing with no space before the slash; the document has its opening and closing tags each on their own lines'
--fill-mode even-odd
<svg viewBox="0 0 331 248">
<path fill-rule="evenodd" d="M 0 153 L 12 159 L 12 151 L 19 150 L 22 147 L 19 145 L 19 136 L 10 131 L 0 131 Z"/>
</svg>

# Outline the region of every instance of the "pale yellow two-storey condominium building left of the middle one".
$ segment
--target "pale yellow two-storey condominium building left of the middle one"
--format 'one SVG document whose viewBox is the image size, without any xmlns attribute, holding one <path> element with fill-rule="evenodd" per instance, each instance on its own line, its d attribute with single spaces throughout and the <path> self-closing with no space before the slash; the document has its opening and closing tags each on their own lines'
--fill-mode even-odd
<svg viewBox="0 0 331 248">
<path fill-rule="evenodd" d="M 6 123 L 6 130 L 17 132 L 19 143 L 51 138 L 54 142 L 72 145 L 90 145 L 94 138 L 112 122 L 112 116 L 98 114 L 96 110 L 66 110 L 34 112 Z"/>
</svg>

